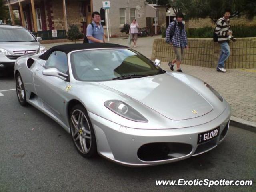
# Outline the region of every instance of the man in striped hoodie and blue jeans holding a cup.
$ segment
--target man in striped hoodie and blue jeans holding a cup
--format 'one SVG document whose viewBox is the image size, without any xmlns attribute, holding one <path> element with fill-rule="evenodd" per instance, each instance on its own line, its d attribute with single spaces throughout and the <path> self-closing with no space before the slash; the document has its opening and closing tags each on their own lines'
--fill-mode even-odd
<svg viewBox="0 0 256 192">
<path fill-rule="evenodd" d="M 220 58 L 218 60 L 217 71 L 224 73 L 227 71 L 224 68 L 225 61 L 230 56 L 229 40 L 236 41 L 230 30 L 230 14 L 230 10 L 225 10 L 224 16 L 217 21 L 217 26 L 214 30 L 214 33 L 217 35 L 217 37 L 214 37 L 214 41 L 217 38 L 218 43 L 220 43 Z M 215 34 L 214 36 L 216 36 Z"/>
</svg>

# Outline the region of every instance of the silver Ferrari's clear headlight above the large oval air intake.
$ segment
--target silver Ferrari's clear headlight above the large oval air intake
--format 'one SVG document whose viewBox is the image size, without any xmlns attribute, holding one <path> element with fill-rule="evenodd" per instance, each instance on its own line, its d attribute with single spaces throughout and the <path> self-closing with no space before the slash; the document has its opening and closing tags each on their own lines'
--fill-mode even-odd
<svg viewBox="0 0 256 192">
<path fill-rule="evenodd" d="M 112 112 L 132 121 L 136 122 L 148 122 L 148 120 L 142 116 L 138 111 L 129 106 L 128 104 L 119 100 L 108 100 L 104 102 L 104 105 Z"/>
</svg>

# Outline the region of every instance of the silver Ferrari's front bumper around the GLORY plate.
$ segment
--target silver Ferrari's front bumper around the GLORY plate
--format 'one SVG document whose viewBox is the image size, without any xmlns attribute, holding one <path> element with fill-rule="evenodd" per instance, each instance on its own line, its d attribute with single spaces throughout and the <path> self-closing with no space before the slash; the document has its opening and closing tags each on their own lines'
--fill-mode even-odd
<svg viewBox="0 0 256 192">
<path fill-rule="evenodd" d="M 231 115 L 230 105 L 216 119 L 206 124 L 177 129 L 134 129 L 120 126 L 96 114 L 88 112 L 96 135 L 98 153 L 116 163 L 126 166 L 151 166 L 183 160 L 196 156 L 215 148 L 225 138 L 228 132 Z M 197 144 L 198 133 L 220 128 L 218 137 Z M 148 152 L 152 158 L 143 158 L 141 147 L 148 145 Z M 157 146 L 154 147 L 154 144 Z M 168 146 L 170 152 L 164 158 L 157 158 L 152 152 Z M 150 149 L 150 147 L 152 147 Z M 140 149 L 140 150 L 139 150 Z M 145 151 L 144 151 L 145 154 Z"/>
</svg>

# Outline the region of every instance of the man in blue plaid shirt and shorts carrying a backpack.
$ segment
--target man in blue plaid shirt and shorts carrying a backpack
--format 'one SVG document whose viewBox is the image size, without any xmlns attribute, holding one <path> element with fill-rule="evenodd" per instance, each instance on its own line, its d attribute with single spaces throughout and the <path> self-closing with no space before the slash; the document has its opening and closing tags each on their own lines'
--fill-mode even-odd
<svg viewBox="0 0 256 192">
<path fill-rule="evenodd" d="M 180 64 L 185 54 L 185 49 L 188 46 L 187 34 L 182 23 L 184 15 L 178 12 L 177 20 L 171 22 L 166 29 L 166 42 L 173 46 L 176 58 L 172 62 L 168 62 L 168 66 L 173 71 L 174 64 L 177 64 L 177 72 L 182 72 Z"/>
</svg>

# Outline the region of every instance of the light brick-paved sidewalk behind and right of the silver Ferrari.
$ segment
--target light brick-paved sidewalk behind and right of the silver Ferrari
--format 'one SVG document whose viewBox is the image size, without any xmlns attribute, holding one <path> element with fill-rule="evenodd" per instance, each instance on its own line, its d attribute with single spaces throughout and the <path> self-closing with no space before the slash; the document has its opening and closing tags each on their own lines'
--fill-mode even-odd
<svg viewBox="0 0 256 192">
<path fill-rule="evenodd" d="M 134 49 L 151 58 L 154 38 L 159 37 L 138 38 L 137 47 Z M 128 45 L 127 39 L 123 38 L 112 38 L 110 42 Z M 44 44 L 44 46 L 50 48 L 58 44 L 67 43 Z M 165 62 L 162 62 L 161 67 L 164 70 L 170 70 Z M 221 73 L 206 67 L 190 65 L 182 65 L 181 67 L 185 73 L 209 83 L 230 103 L 232 108 L 231 120 L 256 127 L 256 69 L 228 69 L 226 73 Z"/>
</svg>

